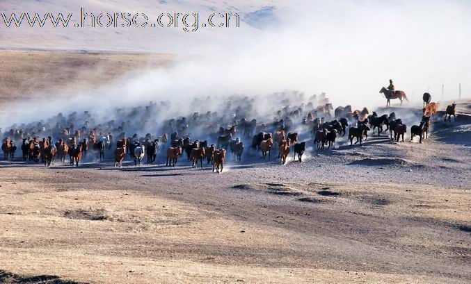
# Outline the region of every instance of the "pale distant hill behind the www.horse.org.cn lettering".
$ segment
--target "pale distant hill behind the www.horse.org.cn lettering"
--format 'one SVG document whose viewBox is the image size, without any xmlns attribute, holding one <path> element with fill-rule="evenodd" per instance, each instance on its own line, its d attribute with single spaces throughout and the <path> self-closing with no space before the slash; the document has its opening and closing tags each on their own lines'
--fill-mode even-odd
<svg viewBox="0 0 471 284">
<path fill-rule="evenodd" d="M 38 22 L 31 28 L 26 17 L 19 28 L 15 27 L 15 22 L 11 22 L 10 27 L 6 28 L 3 15 L 0 15 L 0 49 L 53 49 L 53 50 L 76 50 L 76 51 L 150 51 L 157 53 L 174 53 L 179 50 L 186 50 L 189 47 L 195 48 L 198 43 L 214 40 L 230 40 L 232 35 L 244 33 L 256 33 L 257 28 L 267 24 L 271 17 L 271 11 L 278 3 L 282 1 L 262 0 L 262 1 L 237 1 L 237 5 L 230 1 L 204 1 L 204 0 L 136 0 L 136 1 L 110 1 L 94 0 L 83 1 L 1 1 L 1 11 L 4 12 L 6 22 L 11 19 L 11 14 L 15 12 L 17 17 L 21 17 L 22 12 L 28 12 L 33 21 L 35 12 L 38 12 L 40 18 L 47 13 L 58 17 L 61 12 L 64 18 L 68 13 L 72 13 L 70 24 L 67 28 L 52 26 L 50 19 L 46 20 L 43 27 L 39 27 Z M 99 27 L 95 28 L 74 27 L 79 24 L 81 18 L 81 8 L 86 12 L 92 12 L 94 15 L 99 12 L 109 12 L 113 14 L 121 12 L 145 13 L 149 17 L 149 23 L 157 23 L 157 17 L 161 13 L 184 13 L 198 12 L 200 14 L 199 28 L 194 33 L 183 31 L 180 22 L 179 27 L 162 28 L 158 25 L 152 28 L 150 24 L 144 28 L 131 27 Z M 207 22 L 207 17 L 212 12 L 235 12 L 241 17 L 240 28 L 202 28 L 202 24 Z M 141 16 L 140 16 L 141 17 Z M 247 19 L 245 21 L 244 19 Z M 12 18 L 13 19 L 13 18 Z M 106 17 L 102 18 L 106 24 Z M 141 18 L 136 18 L 138 22 Z M 181 19 L 181 18 L 180 18 Z M 214 18 L 217 21 L 217 17 Z M 118 18 L 119 23 L 126 23 Z M 143 21 L 143 19 L 141 19 Z M 162 19 L 162 22 L 165 18 Z M 88 21 L 90 21 L 88 19 Z M 188 18 L 189 23 L 194 21 Z M 88 24 L 90 24 L 88 22 Z M 61 26 L 61 24 L 58 24 Z M 208 26 L 208 25 L 207 25 Z"/>
</svg>

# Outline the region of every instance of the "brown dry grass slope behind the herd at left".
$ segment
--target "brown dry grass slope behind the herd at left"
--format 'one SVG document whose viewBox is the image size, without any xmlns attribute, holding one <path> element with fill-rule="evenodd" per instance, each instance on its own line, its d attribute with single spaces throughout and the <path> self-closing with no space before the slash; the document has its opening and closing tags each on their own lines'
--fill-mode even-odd
<svg viewBox="0 0 471 284">
<path fill-rule="evenodd" d="M 172 56 L 147 53 L 70 53 L 0 50 L 2 103 L 93 90 L 125 72 L 168 65 Z"/>
</svg>

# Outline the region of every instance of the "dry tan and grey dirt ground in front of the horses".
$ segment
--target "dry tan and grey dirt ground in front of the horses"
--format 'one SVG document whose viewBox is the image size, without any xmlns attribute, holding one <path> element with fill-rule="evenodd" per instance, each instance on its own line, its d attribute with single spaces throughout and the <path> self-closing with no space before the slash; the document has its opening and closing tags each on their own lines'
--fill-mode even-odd
<svg viewBox="0 0 471 284">
<path fill-rule="evenodd" d="M 222 174 L 1 160 L 0 283 L 470 283 L 470 106 L 424 144 L 342 137 Z"/>
</svg>

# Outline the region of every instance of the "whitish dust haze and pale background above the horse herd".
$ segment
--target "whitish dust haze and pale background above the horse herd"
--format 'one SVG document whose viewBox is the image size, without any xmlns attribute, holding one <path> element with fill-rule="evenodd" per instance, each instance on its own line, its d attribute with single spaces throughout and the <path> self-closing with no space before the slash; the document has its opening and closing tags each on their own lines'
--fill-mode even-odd
<svg viewBox="0 0 471 284">
<path fill-rule="evenodd" d="M 388 79 L 404 90 L 412 103 L 429 91 L 433 101 L 469 97 L 471 77 L 471 9 L 465 1 L 242 1 L 237 5 L 210 1 L 87 1 L 90 12 L 159 12 L 194 10 L 205 13 L 235 11 L 241 28 L 198 30 L 150 28 L 4 28 L 4 49 L 54 49 L 90 51 L 141 51 L 174 53 L 172 67 L 137 69 L 99 89 L 66 94 L 64 103 L 47 102 L 51 112 L 140 104 L 150 100 L 182 99 L 207 94 L 260 96 L 282 90 L 306 94 L 327 92 L 335 105 L 353 108 L 382 105 L 378 94 Z M 79 5 L 34 1 L 20 6 L 2 3 L 14 12 L 74 12 Z M 189 8 L 190 7 L 190 8 Z M 77 19 L 77 15 L 74 16 Z M 102 72 L 107 72 L 106 69 Z M 38 90 L 41 94 L 41 90 Z M 36 108 L 37 105 L 34 105 Z M 22 103 L 11 108 L 29 119 L 31 109 Z M 26 115 L 26 116 L 24 116 Z M 49 114 L 47 114 L 49 115 Z M 46 115 L 46 116 L 47 116 Z M 1 116 L 0 125 L 5 125 Z M 37 114 L 35 114 L 37 117 Z M 21 120 L 21 119 L 20 119 Z"/>
</svg>

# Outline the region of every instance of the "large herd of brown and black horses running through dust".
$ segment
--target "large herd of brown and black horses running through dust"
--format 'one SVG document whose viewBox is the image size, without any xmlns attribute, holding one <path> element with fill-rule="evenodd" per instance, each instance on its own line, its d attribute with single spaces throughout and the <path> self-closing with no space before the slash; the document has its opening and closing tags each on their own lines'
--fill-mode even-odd
<svg viewBox="0 0 471 284">
<path fill-rule="evenodd" d="M 385 94 L 388 104 L 390 99 L 400 99 L 401 103 L 402 99 L 407 99 L 406 94 L 401 91 L 390 94 L 383 88 L 380 92 Z M 410 127 L 410 141 L 417 135 L 420 137 L 420 143 L 427 137 L 432 123 L 431 117 L 436 115 L 439 108 L 438 103 L 431 102 L 430 94 L 425 93 L 423 100 L 422 120 L 420 124 Z M 373 135 L 376 131 L 378 136 L 383 131 L 389 131 L 391 140 L 404 142 L 408 127 L 394 112 L 384 115 L 378 115 L 377 112 L 370 114 L 367 108 L 352 110 L 351 106 L 339 106 L 334 110 L 327 98 L 323 97 L 320 101 L 316 107 L 312 102 L 284 106 L 275 112 L 273 121 L 262 123 L 260 119 L 257 121 L 255 118 L 239 118 L 239 115 L 244 115 L 241 111 L 244 107 L 237 106 L 234 109 L 234 104 L 228 103 L 227 110 L 234 112 L 234 115 L 195 112 L 190 119 L 166 119 L 161 122 L 163 134 L 157 136 L 147 133 L 144 137 L 139 137 L 138 134 L 131 137 L 126 135 L 125 131 L 133 124 L 130 120 L 122 119 L 118 126 L 115 120 L 92 126 L 90 121 L 94 119 L 88 112 L 84 112 L 81 117 L 77 112 L 72 112 L 68 118 L 58 114 L 49 119 L 50 122 L 56 122 L 54 126 L 38 122 L 0 133 L 4 137 L 1 149 L 3 158 L 11 160 L 15 158 L 17 143 L 20 143 L 24 161 L 42 162 L 47 167 L 54 164 L 56 159 L 65 163 L 67 157 L 70 159 L 70 165 L 79 167 L 81 160 L 88 159 L 88 156 L 99 162 L 104 160 L 105 156 L 113 156 L 115 167 L 121 167 L 127 156 L 134 160 L 136 166 L 141 165 L 145 156 L 147 164 L 153 164 L 159 149 L 163 149 L 161 155 L 165 156 L 168 167 L 175 167 L 179 156 L 185 155 L 193 168 L 198 167 L 198 164 L 202 168 L 205 160 L 207 165 L 212 165 L 213 172 L 222 172 L 227 153 L 240 162 L 247 144 L 251 153 L 259 151 L 264 159 L 271 159 L 273 151 L 278 153 L 280 163 L 285 164 L 289 153 L 293 153 L 293 160 L 297 157 L 298 162 L 302 162 L 307 142 L 301 141 L 301 137 L 308 135 L 313 138 L 317 149 L 324 149 L 325 146 L 330 149 L 337 137 L 345 136 L 347 132 L 350 144 L 356 140 L 355 144 L 362 145 L 362 142 L 367 140 L 369 131 L 372 131 Z M 145 111 L 149 109 L 150 106 L 146 107 Z M 126 114 L 127 118 L 136 112 L 136 109 L 130 110 Z M 454 116 L 456 121 L 456 103 L 446 108 L 445 120 L 450 121 L 451 116 Z M 74 125 L 77 124 L 82 126 L 75 128 Z M 192 133 L 200 133 L 200 137 L 205 139 L 193 140 L 195 135 Z M 41 140 L 38 134 L 47 137 Z"/>
</svg>

